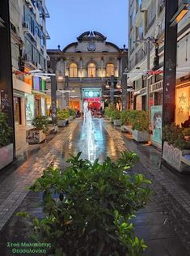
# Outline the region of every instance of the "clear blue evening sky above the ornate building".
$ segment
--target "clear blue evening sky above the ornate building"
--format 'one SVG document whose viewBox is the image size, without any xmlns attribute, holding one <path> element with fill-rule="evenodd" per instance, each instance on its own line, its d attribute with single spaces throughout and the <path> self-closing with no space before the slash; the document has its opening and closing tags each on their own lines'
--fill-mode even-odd
<svg viewBox="0 0 190 256">
<path fill-rule="evenodd" d="M 98 31 L 120 48 L 128 43 L 128 0 L 46 0 L 46 6 L 48 49 L 63 49 L 86 31 Z"/>
</svg>

